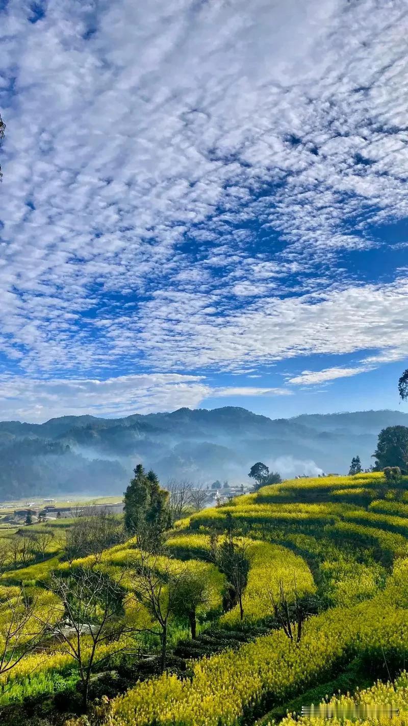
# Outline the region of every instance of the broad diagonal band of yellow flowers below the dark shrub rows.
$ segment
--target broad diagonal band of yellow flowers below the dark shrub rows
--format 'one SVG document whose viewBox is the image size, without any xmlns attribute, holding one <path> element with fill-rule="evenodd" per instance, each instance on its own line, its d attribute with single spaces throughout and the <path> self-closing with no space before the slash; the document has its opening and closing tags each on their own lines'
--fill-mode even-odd
<svg viewBox="0 0 408 726">
<path fill-rule="evenodd" d="M 116 699 L 115 725 L 233 726 L 243 714 L 256 716 L 265 703 L 282 701 L 328 676 L 346 654 L 392 650 L 402 658 L 408 619 L 401 583 L 407 592 L 408 560 L 396 566 L 390 585 L 372 600 L 311 618 L 299 644 L 273 632 L 238 651 L 202 659 L 192 680 L 164 674 L 138 683 Z"/>
</svg>

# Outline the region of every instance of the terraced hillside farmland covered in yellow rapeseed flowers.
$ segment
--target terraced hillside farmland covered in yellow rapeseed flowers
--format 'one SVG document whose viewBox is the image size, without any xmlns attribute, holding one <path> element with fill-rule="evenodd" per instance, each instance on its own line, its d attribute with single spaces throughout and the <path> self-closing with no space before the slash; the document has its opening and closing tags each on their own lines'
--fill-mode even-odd
<svg viewBox="0 0 408 726">
<path fill-rule="evenodd" d="M 54 530 L 69 532 L 72 522 L 64 527 L 62 522 L 56 521 Z M 40 534 L 42 528 L 49 524 L 32 526 Z M 28 529 L 12 537 L 21 539 Z M 242 587 L 216 556 L 227 545 L 248 563 Z M 96 665 L 89 672 L 87 707 L 94 723 L 238 726 L 283 719 L 283 726 L 292 726 L 288 710 L 299 712 L 322 698 L 330 701 L 333 694 L 339 708 L 342 703 L 350 709 L 397 703 L 400 712 L 393 721 L 388 712 L 378 721 L 369 714 L 365 725 L 403 722 L 401 710 L 408 706 L 407 477 L 386 484 L 382 473 L 370 473 L 265 486 L 176 522 L 164 547 L 152 556 L 149 565 L 133 536 L 67 561 L 63 541 L 55 536 L 33 563 L 4 563 L 4 723 L 16 713 L 20 722 L 34 722 L 35 714 L 38 724 L 84 723 L 81 669 L 91 658 Z M 157 607 L 167 613 L 165 629 L 146 597 L 148 567 L 150 580 L 162 583 Z M 71 651 L 69 638 L 55 633 L 67 616 L 61 583 L 85 572 L 117 592 L 121 606 L 112 616 L 109 638 L 95 644 L 92 629 L 78 635 L 78 661 L 75 632 Z M 170 607 L 175 583 L 189 578 L 205 582 L 205 597 L 194 611 L 193 638 L 187 611 Z M 22 593 L 34 606 L 10 654 L 4 634 L 16 608 L 22 612 Z M 44 621 L 48 635 L 42 631 L 40 638 Z M 27 648 L 36 628 L 35 647 Z M 101 701 L 101 696 L 108 698 Z M 324 715 L 315 714 L 301 725 L 324 722 Z"/>
</svg>

